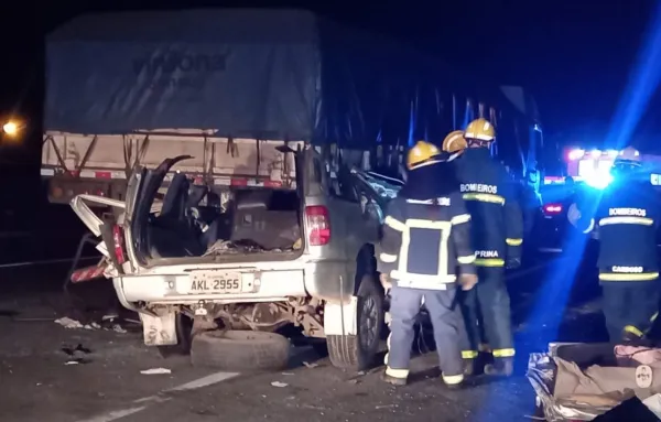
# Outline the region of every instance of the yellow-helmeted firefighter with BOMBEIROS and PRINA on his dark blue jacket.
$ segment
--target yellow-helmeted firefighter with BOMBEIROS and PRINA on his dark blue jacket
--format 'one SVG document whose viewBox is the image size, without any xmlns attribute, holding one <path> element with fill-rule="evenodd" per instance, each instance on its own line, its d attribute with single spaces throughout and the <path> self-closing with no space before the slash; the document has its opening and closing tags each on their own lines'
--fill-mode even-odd
<svg viewBox="0 0 661 422">
<path fill-rule="evenodd" d="M 480 283 L 462 295 L 470 340 L 463 357 L 466 372 L 472 374 L 477 370 L 479 351 L 490 351 L 494 361 L 485 366 L 485 374 L 510 376 L 514 347 L 505 269 L 521 266 L 523 217 L 514 181 L 490 154 L 496 139 L 494 126 L 484 118 L 474 120 L 466 128 L 464 138 L 467 148 L 455 161 L 455 166 L 466 208 L 473 218 L 475 266 Z M 483 344 L 485 335 L 488 346 Z"/>
</svg>

